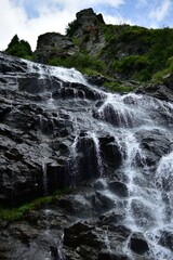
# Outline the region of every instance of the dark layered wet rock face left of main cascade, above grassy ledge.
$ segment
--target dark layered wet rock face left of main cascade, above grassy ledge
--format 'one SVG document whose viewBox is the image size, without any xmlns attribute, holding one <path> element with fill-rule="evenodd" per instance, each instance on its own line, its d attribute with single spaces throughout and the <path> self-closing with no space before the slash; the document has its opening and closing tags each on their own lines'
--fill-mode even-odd
<svg viewBox="0 0 173 260">
<path fill-rule="evenodd" d="M 109 158 L 116 146 L 108 139 L 102 141 L 95 135 L 96 147 L 92 135 L 95 119 L 89 114 L 97 100 L 105 99 L 104 92 L 84 86 L 82 76 L 72 69 L 56 73 L 55 68 L 4 54 L 0 58 L 2 204 L 22 204 L 99 177 L 103 158 L 103 170 L 108 169 L 107 164 L 119 167 L 119 152 L 116 162 Z M 75 145 L 76 135 L 79 138 Z"/>
</svg>

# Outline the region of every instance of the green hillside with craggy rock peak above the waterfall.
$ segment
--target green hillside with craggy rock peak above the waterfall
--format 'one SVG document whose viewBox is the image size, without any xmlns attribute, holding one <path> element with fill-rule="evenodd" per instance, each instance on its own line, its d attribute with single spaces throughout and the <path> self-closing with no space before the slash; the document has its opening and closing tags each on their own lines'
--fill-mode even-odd
<svg viewBox="0 0 173 260">
<path fill-rule="evenodd" d="M 173 56 L 173 29 L 107 25 L 102 14 L 82 10 L 68 24 L 66 36 L 39 36 L 35 61 L 76 67 L 120 80 L 148 81 L 169 67 Z"/>
</svg>

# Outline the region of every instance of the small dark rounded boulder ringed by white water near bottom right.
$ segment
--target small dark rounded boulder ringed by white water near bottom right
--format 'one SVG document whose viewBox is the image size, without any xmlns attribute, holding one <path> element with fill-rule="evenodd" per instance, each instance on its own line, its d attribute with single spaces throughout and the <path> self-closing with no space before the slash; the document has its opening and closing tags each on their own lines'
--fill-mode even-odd
<svg viewBox="0 0 173 260">
<path fill-rule="evenodd" d="M 149 251 L 148 244 L 141 233 L 134 233 L 131 236 L 130 248 L 138 255 Z"/>
</svg>

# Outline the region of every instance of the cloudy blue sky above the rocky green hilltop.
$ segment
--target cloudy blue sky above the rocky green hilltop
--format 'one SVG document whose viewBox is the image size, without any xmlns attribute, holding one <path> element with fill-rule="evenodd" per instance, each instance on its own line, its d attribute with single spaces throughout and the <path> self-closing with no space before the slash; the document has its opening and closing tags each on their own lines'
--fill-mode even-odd
<svg viewBox="0 0 173 260">
<path fill-rule="evenodd" d="M 173 28 L 173 0 L 0 0 L 0 50 L 17 34 L 36 50 L 39 35 L 65 34 L 80 10 L 92 8 L 106 24 Z"/>
</svg>

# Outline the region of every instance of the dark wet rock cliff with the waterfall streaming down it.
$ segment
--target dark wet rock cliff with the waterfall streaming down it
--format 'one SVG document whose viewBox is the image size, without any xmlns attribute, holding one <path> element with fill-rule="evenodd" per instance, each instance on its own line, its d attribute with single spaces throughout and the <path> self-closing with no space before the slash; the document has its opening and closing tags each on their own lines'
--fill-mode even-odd
<svg viewBox="0 0 173 260">
<path fill-rule="evenodd" d="M 110 93 L 0 53 L 0 259 L 172 259 L 164 88 Z"/>
</svg>

